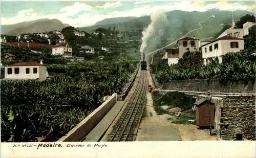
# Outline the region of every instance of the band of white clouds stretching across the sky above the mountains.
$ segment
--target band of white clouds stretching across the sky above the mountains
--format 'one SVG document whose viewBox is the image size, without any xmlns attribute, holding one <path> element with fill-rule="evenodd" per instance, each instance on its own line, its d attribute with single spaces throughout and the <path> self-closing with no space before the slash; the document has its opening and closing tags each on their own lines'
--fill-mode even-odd
<svg viewBox="0 0 256 158">
<path fill-rule="evenodd" d="M 144 1 L 143 1 L 144 2 Z M 120 2 L 108 2 L 102 6 L 98 6 L 97 8 L 110 8 L 117 7 L 122 5 Z M 183 10 L 183 11 L 206 11 L 208 9 L 220 9 L 220 10 L 252 10 L 250 8 L 255 8 L 255 5 L 251 6 L 243 6 L 239 3 L 234 2 L 212 2 L 207 5 L 195 5 L 195 3 L 191 1 L 181 1 L 181 2 L 172 2 L 168 4 L 159 4 L 159 5 L 149 5 L 144 4 L 142 6 L 134 7 L 131 10 L 123 10 L 123 11 L 113 11 L 107 14 L 95 13 L 96 9 L 90 5 L 76 2 L 72 6 L 63 7 L 56 14 L 48 14 L 48 15 L 38 15 L 34 12 L 33 9 L 21 10 L 17 13 L 17 15 L 13 17 L 1 17 L 2 25 L 11 25 L 16 24 L 18 22 L 23 21 L 31 21 L 40 18 L 49 18 L 49 19 L 59 19 L 65 24 L 69 24 L 74 27 L 83 27 L 94 25 L 97 21 L 103 20 L 105 18 L 113 18 L 113 17 L 127 17 L 127 16 L 144 16 L 151 15 L 155 12 L 168 12 L 172 10 Z M 90 12 L 94 11 L 94 13 Z M 82 12 L 82 14 L 78 15 L 76 18 L 70 18 L 70 16 L 74 16 L 77 13 Z"/>
</svg>

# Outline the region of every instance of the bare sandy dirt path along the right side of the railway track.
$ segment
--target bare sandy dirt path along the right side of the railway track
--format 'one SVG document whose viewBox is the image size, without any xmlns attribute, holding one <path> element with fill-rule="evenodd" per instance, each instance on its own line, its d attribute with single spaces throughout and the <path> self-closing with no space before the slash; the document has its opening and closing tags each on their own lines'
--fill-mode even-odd
<svg viewBox="0 0 256 158">
<path fill-rule="evenodd" d="M 153 85 L 149 74 L 148 82 Z M 209 136 L 208 130 L 199 130 L 196 125 L 174 124 L 172 116 L 157 115 L 153 107 L 152 94 L 147 93 L 146 115 L 142 118 L 136 141 L 195 141 L 217 140 L 216 136 Z"/>
</svg>

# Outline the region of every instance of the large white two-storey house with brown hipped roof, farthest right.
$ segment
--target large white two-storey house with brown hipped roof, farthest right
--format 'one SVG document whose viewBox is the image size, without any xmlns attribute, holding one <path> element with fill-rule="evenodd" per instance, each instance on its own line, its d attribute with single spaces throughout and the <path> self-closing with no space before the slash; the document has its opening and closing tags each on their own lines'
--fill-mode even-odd
<svg viewBox="0 0 256 158">
<path fill-rule="evenodd" d="M 244 39 L 232 36 L 223 36 L 216 40 L 204 44 L 202 46 L 202 55 L 204 64 L 219 59 L 219 63 L 222 62 L 222 56 L 228 52 L 239 52 L 244 49 Z"/>
</svg>

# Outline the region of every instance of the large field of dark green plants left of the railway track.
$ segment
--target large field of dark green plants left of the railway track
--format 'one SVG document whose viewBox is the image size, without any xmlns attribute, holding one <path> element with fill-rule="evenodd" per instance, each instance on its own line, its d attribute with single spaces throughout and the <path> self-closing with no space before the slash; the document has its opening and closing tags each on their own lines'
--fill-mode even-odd
<svg viewBox="0 0 256 158">
<path fill-rule="evenodd" d="M 47 70 L 54 74 L 51 80 L 1 81 L 2 141 L 36 141 L 35 137 L 45 136 L 50 130 L 59 139 L 88 115 L 84 111 L 98 107 L 103 96 L 120 93 L 135 63 L 138 61 L 120 58 L 49 64 Z M 61 109 L 59 105 L 72 108 Z"/>
</svg>

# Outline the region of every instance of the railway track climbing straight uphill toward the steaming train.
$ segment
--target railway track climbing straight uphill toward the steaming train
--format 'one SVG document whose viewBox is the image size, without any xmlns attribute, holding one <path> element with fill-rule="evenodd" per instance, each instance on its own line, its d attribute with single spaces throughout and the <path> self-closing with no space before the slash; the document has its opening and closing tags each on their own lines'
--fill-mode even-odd
<svg viewBox="0 0 256 158">
<path fill-rule="evenodd" d="M 135 141 L 146 101 L 147 75 L 141 71 L 140 78 L 130 101 L 108 136 L 108 141 Z"/>
</svg>

